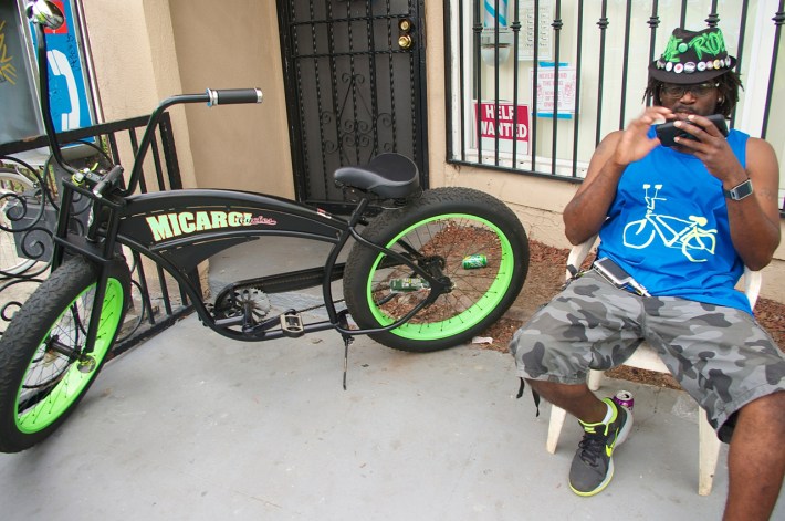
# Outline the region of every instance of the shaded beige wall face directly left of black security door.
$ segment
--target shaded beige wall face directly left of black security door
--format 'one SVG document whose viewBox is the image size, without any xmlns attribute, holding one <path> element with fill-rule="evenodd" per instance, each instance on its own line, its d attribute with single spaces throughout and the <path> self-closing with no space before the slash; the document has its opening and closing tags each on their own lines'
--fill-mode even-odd
<svg viewBox="0 0 785 521">
<path fill-rule="evenodd" d="M 170 0 L 187 92 L 260 87 L 261 105 L 187 107 L 200 187 L 294 197 L 274 0 Z"/>
</svg>

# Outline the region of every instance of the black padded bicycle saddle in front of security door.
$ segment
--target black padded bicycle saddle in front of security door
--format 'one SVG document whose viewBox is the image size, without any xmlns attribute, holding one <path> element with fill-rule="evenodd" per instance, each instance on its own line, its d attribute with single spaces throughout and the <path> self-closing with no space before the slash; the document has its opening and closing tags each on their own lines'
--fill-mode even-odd
<svg viewBox="0 0 785 521">
<path fill-rule="evenodd" d="M 402 199 L 419 189 L 420 175 L 408 157 L 379 154 L 367 166 L 345 166 L 335 170 L 335 181 L 387 199 Z"/>
</svg>

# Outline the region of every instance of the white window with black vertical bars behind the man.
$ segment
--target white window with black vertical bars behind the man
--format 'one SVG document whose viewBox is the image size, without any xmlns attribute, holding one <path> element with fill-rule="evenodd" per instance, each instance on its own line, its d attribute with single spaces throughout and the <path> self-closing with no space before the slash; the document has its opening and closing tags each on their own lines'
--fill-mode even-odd
<svg viewBox="0 0 785 521">
<path fill-rule="evenodd" d="M 677 24 L 695 30 L 701 27 L 723 28 L 726 42 L 734 44 L 731 45 L 731 52 L 737 59 L 736 70 L 742 73 L 743 80 L 747 79 L 751 84 L 757 83 L 753 92 L 747 90 L 742 93 L 744 105 L 740 104 L 734 110 L 731 126 L 736 123 L 736 112 L 741 110 L 741 114 L 752 114 L 746 115 L 745 127 L 742 129 L 766 138 L 770 119 L 783 110 L 774 104 L 778 92 L 775 80 L 781 29 L 785 23 L 785 0 L 781 0 L 777 11 L 770 14 L 763 10 L 773 9 L 772 2 L 753 2 L 751 6 L 749 0 L 681 0 L 677 6 L 671 7 L 669 3 L 667 8 L 662 8 L 661 3 L 658 0 L 651 0 L 650 3 L 632 0 L 446 2 L 448 161 L 580 181 L 592 153 L 601 138 L 610 131 L 624 128 L 626 122 L 640 111 L 641 102 L 651 104 L 651 100 L 642 100 L 646 66 L 659 55 L 670 30 Z M 672 12 L 673 7 L 678 8 L 676 12 Z M 721 7 L 725 12 L 724 19 Z M 509 8 L 506 25 L 500 21 L 500 9 L 505 8 Z M 533 12 L 534 23 L 522 19 L 524 9 L 533 9 L 530 12 Z M 488 23 L 489 10 L 495 17 L 492 23 Z M 703 15 L 700 10 L 704 10 Z M 545 15 L 547 20 L 541 19 Z M 772 21 L 768 27 L 762 23 L 766 19 Z M 484 24 L 483 20 L 486 20 Z M 663 23 L 668 27 L 662 27 Z M 765 44 L 760 43 L 762 29 L 771 34 L 771 46 L 770 40 L 765 40 Z M 512 64 L 502 63 L 504 59 L 500 59 L 504 46 L 500 34 L 502 30 L 509 30 L 511 34 Z M 643 31 L 648 32 L 648 39 L 638 38 L 639 34 L 642 37 Z M 737 38 L 733 38 L 735 34 Z M 618 40 L 617 35 L 624 41 L 621 52 L 609 48 L 610 42 Z M 562 115 L 559 97 L 564 96 L 558 80 L 553 83 L 553 92 L 547 93 L 548 103 L 553 105 L 546 104 L 542 97 L 544 93 L 537 90 L 538 70 L 543 66 L 541 62 L 544 62 L 541 39 L 550 42 L 551 52 L 546 53 L 545 59 L 553 61 L 555 79 L 558 79 L 559 67 L 564 63 L 575 70 L 573 112 L 564 118 L 558 117 Z M 640 49 L 639 42 L 646 40 L 648 49 Z M 534 41 L 527 56 L 520 53 L 524 41 Z M 483 53 L 488 60 L 489 45 L 492 46 L 493 58 L 491 63 L 483 65 Z M 754 65 L 749 49 L 754 48 L 757 48 L 758 55 L 763 53 L 765 56 L 764 63 L 770 61 L 766 75 L 749 70 L 747 63 Z M 526 74 L 531 74 L 531 80 Z M 765 100 L 763 107 L 755 105 L 760 103 L 758 100 Z M 492 104 L 496 108 L 494 115 L 484 122 L 480 113 L 482 103 Z M 513 107 L 528 105 L 530 121 L 525 140 L 519 140 L 516 108 L 511 111 L 512 134 L 505 134 L 504 138 L 500 135 L 499 107 L 502 103 L 511 103 Z M 588 112 L 582 114 L 582 107 L 588 108 Z M 551 117 L 540 117 L 543 108 L 551 113 Z M 493 138 L 489 139 L 491 135 L 483 131 L 483 125 L 488 127 L 494 124 Z M 768 137 L 774 140 L 775 149 L 785 155 L 785 138 Z M 566 139 L 572 139 L 572 146 Z M 779 159 L 785 161 L 785 157 Z M 785 217 L 785 171 L 781 176 L 781 215 Z"/>
</svg>

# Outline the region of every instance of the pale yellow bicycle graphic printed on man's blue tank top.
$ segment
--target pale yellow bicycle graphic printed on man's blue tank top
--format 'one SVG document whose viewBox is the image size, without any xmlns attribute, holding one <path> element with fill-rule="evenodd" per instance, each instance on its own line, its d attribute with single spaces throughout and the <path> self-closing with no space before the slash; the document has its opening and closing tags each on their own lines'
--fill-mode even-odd
<svg viewBox="0 0 785 521">
<path fill-rule="evenodd" d="M 646 215 L 643 218 L 625 226 L 625 246 L 642 250 L 651 244 L 655 237 L 659 237 L 668 248 L 681 248 L 681 252 L 690 262 L 705 262 L 710 254 L 714 254 L 716 229 L 702 228 L 709 222 L 705 217 L 689 216 L 687 219 L 680 219 L 655 213 L 656 202 L 668 199 L 657 197 L 662 185 L 655 185 L 652 197 L 649 197 L 650 188 L 651 185 L 643 185 L 646 191 Z"/>
</svg>

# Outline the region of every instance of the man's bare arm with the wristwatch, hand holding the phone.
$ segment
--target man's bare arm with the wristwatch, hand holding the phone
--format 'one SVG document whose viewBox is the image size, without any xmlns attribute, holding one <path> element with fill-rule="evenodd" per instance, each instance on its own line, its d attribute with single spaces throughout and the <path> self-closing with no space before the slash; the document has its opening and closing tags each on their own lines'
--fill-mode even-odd
<svg viewBox="0 0 785 521">
<path fill-rule="evenodd" d="M 701 116 L 690 116 L 693 125 L 682 125 L 700 140 L 679 138 L 678 143 L 703 161 L 711 175 L 722 181 L 725 190 L 752 181 L 753 195 L 740 201 L 728 199 L 728 219 L 733 247 L 751 270 L 760 270 L 772 261 L 779 244 L 779 208 L 777 187 L 779 167 L 772 146 L 751 137 L 746 144 L 746 168 L 743 168 L 725 138 Z"/>
</svg>

